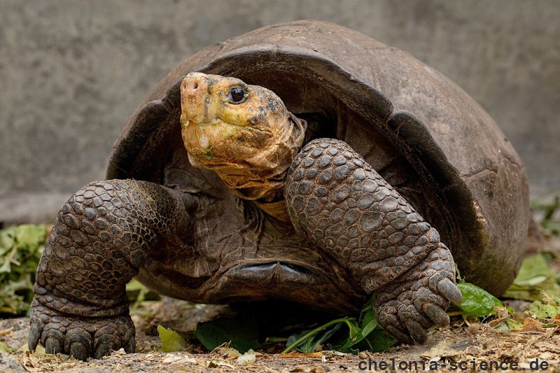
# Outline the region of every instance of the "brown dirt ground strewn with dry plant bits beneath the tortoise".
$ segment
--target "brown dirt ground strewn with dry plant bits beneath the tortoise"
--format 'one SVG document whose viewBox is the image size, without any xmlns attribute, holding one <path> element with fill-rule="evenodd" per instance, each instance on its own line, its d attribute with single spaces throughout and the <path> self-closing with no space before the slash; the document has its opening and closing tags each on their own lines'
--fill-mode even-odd
<svg viewBox="0 0 560 373">
<path fill-rule="evenodd" d="M 560 253 L 560 239 L 547 243 L 547 250 Z M 560 273 L 560 258 L 552 263 Z M 523 323 L 523 311 L 529 302 L 506 301 L 508 307 L 520 311 L 515 315 Z M 395 346 L 384 353 L 360 353 L 358 356 L 320 351 L 312 354 L 280 355 L 283 344 L 269 344 L 260 349 L 254 361 L 239 365 L 228 356 L 227 349 L 207 353 L 193 337 L 200 321 L 235 312 L 227 306 L 195 305 L 171 298 L 144 304 L 135 309 L 132 319 L 137 328 L 137 353 L 115 351 L 101 360 L 81 362 L 68 356 L 45 355 L 22 351 L 27 344 L 27 318 L 0 321 L 0 344 L 19 350 L 6 353 L 0 349 L 0 372 L 362 372 L 422 371 L 479 372 L 484 366 L 499 362 L 492 370 L 560 372 L 560 318 L 541 320 L 556 323 L 556 328 L 526 327 L 521 331 L 500 331 L 491 319 L 463 321 L 456 316 L 446 328 L 435 328 L 423 345 Z M 187 341 L 186 352 L 163 353 L 157 326 L 179 332 Z M 540 323 L 539 323 L 540 325 Z M 529 325 L 531 326 L 531 325 Z M 461 363 L 462 362 L 462 363 Z M 385 364 L 385 365 L 384 365 Z M 393 365 L 394 364 L 394 365 Z M 462 365 L 461 365 L 462 364 Z M 496 363 L 493 363 L 496 364 Z M 376 369 L 377 368 L 377 369 Z"/>
</svg>

